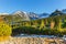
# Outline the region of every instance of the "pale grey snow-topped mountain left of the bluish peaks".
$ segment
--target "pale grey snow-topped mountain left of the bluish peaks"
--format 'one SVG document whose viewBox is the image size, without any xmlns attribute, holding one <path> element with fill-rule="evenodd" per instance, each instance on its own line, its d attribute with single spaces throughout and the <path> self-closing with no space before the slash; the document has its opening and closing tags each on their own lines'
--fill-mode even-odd
<svg viewBox="0 0 66 44">
<path fill-rule="evenodd" d="M 26 12 L 23 12 L 23 11 L 16 11 L 16 12 L 14 12 L 13 16 L 21 18 L 22 21 L 30 21 L 29 14 Z"/>
</svg>

